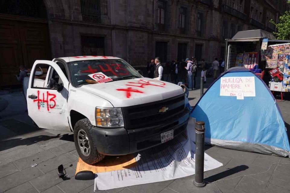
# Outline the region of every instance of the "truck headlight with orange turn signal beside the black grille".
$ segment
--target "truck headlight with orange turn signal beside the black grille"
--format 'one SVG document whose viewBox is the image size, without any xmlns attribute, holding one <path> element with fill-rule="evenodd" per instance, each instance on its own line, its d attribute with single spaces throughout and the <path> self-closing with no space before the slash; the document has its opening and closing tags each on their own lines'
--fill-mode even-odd
<svg viewBox="0 0 290 193">
<path fill-rule="evenodd" d="M 96 107 L 96 125 L 98 127 L 124 127 L 121 108 Z"/>
</svg>

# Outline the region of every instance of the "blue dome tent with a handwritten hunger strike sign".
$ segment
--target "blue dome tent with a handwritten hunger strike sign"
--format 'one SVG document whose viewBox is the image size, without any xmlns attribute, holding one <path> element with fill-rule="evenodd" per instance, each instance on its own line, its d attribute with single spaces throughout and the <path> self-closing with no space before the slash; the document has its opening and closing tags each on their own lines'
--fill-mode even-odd
<svg viewBox="0 0 290 193">
<path fill-rule="evenodd" d="M 206 144 L 289 156 L 289 140 L 279 106 L 267 85 L 247 68 L 234 67 L 221 74 L 191 116 L 205 122 Z"/>
</svg>

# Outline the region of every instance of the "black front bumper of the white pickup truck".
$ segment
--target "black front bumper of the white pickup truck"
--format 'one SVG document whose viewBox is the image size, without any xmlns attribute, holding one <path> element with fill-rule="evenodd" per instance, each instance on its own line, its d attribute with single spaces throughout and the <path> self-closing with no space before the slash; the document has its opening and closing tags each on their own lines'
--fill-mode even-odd
<svg viewBox="0 0 290 193">
<path fill-rule="evenodd" d="M 162 123 L 154 127 L 126 130 L 125 128 L 99 128 L 93 127 L 92 134 L 97 140 L 97 150 L 104 155 L 126 155 L 161 144 L 160 134 L 174 130 L 174 137 L 182 133 L 189 119 L 189 111 L 185 108 L 179 119 Z M 152 135 L 142 138 L 144 133 L 150 131 Z M 153 132 L 152 132 L 153 131 Z"/>
</svg>

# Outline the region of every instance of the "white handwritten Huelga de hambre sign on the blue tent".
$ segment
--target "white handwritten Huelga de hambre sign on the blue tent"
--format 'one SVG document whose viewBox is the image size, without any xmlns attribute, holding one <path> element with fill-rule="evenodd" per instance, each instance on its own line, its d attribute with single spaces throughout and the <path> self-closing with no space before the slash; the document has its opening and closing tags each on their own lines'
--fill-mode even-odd
<svg viewBox="0 0 290 193">
<path fill-rule="evenodd" d="M 238 100 L 256 96 L 255 77 L 222 77 L 220 96 L 236 96 Z"/>
</svg>

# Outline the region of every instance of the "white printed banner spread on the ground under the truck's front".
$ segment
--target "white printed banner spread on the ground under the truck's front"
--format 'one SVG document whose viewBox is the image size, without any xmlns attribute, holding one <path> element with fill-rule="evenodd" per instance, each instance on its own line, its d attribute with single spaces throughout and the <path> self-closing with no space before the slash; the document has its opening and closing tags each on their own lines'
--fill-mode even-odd
<svg viewBox="0 0 290 193">
<path fill-rule="evenodd" d="M 177 138 L 165 144 L 139 152 L 136 157 L 138 163 L 136 167 L 97 173 L 95 187 L 98 190 L 108 190 L 194 175 L 194 128 L 195 119 L 191 118 L 187 126 L 187 136 L 180 134 Z M 222 163 L 205 153 L 205 171 L 218 168 L 222 165 Z M 96 191 L 96 188 L 94 191 Z"/>
</svg>

